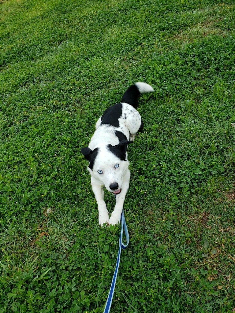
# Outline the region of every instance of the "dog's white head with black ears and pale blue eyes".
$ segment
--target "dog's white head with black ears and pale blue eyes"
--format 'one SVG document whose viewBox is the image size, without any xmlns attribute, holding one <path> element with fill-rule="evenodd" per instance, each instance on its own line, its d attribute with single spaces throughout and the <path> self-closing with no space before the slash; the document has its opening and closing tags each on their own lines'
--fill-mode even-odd
<svg viewBox="0 0 235 313">
<path fill-rule="evenodd" d="M 82 154 L 89 162 L 88 170 L 92 177 L 104 185 L 113 194 L 122 191 L 123 177 L 129 162 L 127 160 L 127 145 L 133 141 L 122 140 L 117 145 L 107 145 L 91 150 L 81 148 Z"/>
</svg>

